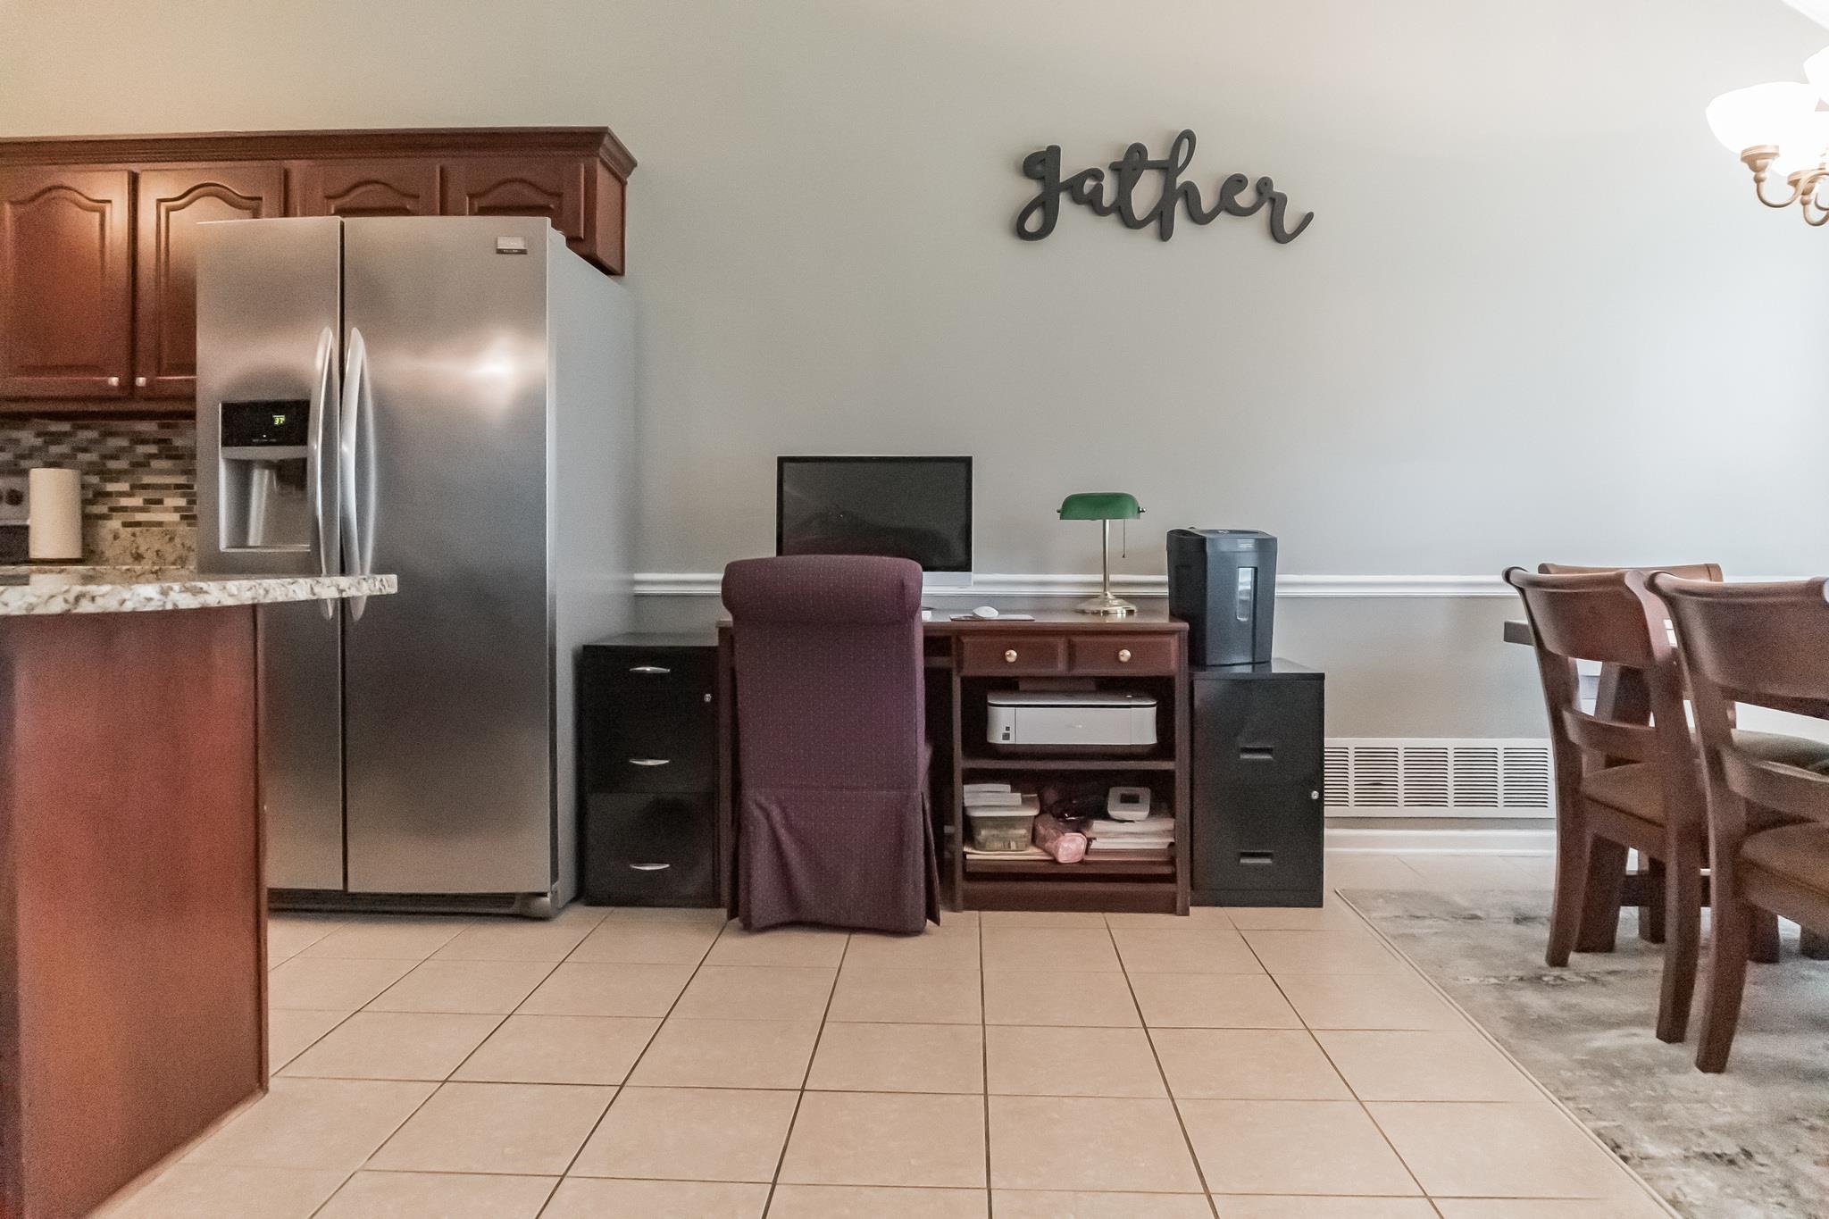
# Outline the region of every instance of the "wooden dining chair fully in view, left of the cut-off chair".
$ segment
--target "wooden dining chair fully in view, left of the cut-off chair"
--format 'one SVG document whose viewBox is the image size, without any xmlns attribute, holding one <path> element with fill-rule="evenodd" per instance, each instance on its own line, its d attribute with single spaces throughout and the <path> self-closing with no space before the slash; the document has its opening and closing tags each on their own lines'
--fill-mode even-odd
<svg viewBox="0 0 1829 1219">
<path fill-rule="evenodd" d="M 1524 599 L 1556 771 L 1556 888 L 1544 959 L 1569 963 L 1582 925 L 1619 921 L 1626 850 L 1664 864 L 1664 972 L 1657 1036 L 1681 1042 L 1701 936 L 1705 795 L 1663 605 L 1628 572 L 1505 572 Z M 1642 676 L 1644 715 L 1582 711 L 1575 662 Z"/>
</svg>

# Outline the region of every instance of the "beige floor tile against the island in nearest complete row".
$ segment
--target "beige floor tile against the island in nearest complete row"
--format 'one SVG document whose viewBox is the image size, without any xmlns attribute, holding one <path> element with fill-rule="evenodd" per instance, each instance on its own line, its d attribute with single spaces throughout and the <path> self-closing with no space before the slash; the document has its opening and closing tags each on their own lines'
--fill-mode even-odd
<svg viewBox="0 0 1829 1219">
<path fill-rule="evenodd" d="M 384 1080 L 273 1080 L 265 1097 L 198 1144 L 185 1162 L 353 1171 L 433 1087 Z"/>
</svg>

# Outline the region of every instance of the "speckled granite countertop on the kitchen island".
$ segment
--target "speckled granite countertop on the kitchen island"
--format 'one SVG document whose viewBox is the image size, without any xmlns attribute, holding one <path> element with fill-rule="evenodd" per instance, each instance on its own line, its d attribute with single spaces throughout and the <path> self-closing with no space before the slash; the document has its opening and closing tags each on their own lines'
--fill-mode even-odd
<svg viewBox="0 0 1829 1219">
<path fill-rule="evenodd" d="M 384 596 L 393 576 L 205 576 L 181 567 L 0 567 L 0 618 Z"/>
</svg>

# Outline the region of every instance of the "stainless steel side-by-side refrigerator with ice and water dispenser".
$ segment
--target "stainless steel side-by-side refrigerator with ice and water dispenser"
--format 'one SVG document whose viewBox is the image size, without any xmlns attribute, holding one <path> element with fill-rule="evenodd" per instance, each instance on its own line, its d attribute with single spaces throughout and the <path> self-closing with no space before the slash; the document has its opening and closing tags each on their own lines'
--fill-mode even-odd
<svg viewBox="0 0 1829 1219">
<path fill-rule="evenodd" d="M 391 572 L 258 612 L 278 905 L 551 914 L 572 660 L 627 625 L 627 292 L 545 219 L 198 227 L 198 565 Z"/>
</svg>

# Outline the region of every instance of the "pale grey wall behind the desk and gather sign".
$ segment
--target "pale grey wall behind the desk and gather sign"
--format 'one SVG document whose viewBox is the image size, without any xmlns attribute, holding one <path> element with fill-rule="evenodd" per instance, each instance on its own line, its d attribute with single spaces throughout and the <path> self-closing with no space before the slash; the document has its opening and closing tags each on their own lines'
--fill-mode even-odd
<svg viewBox="0 0 1829 1219">
<path fill-rule="evenodd" d="M 1054 508 L 1116 486 L 1134 572 L 1200 523 L 1306 574 L 1783 574 L 1829 568 L 1829 232 L 1701 111 L 1824 42 L 1778 0 L 0 0 L 0 133 L 613 126 L 647 570 L 768 550 L 775 453 L 962 451 L 980 570 L 1086 570 Z M 1011 236 L 1026 152 L 1182 126 L 1313 227 Z M 1335 731 L 1432 727 L 1353 605 L 1299 610 L 1361 682 Z M 1469 731 L 1535 724 L 1524 656 L 1456 684 L 1467 631 L 1397 634 Z"/>
</svg>

